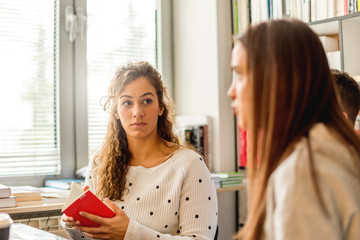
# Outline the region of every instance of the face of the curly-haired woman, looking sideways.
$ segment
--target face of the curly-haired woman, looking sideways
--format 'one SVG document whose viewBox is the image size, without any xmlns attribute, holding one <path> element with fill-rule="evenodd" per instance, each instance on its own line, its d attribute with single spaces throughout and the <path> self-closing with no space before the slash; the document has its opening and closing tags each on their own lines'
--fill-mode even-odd
<svg viewBox="0 0 360 240">
<path fill-rule="evenodd" d="M 139 77 L 120 94 L 115 117 L 128 138 L 148 138 L 156 136 L 158 117 L 163 112 L 154 86 L 147 78 Z"/>
</svg>

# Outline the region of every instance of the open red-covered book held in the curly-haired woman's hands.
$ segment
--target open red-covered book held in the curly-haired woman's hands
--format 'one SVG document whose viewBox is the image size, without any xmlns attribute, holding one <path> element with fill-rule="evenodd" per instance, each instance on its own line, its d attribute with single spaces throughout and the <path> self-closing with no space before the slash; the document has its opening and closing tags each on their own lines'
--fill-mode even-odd
<svg viewBox="0 0 360 240">
<path fill-rule="evenodd" d="M 96 206 L 96 207 L 94 207 Z M 112 218 L 116 214 L 103 201 L 95 196 L 89 189 L 85 192 L 75 182 L 71 183 L 70 195 L 65 202 L 61 212 L 67 216 L 80 221 L 80 225 L 87 227 L 98 227 L 100 224 L 79 215 L 79 212 L 88 212 L 103 218 Z"/>
</svg>

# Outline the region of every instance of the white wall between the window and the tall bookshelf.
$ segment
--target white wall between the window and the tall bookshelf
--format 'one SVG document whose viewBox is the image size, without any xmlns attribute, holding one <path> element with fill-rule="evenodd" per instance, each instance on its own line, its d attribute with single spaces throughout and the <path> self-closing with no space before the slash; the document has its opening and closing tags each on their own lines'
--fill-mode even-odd
<svg viewBox="0 0 360 240">
<path fill-rule="evenodd" d="M 231 9 L 224 0 L 173 0 L 174 99 L 178 115 L 208 115 L 214 170 L 235 170 Z M 219 193 L 219 238 L 235 233 L 235 192 Z"/>
</svg>

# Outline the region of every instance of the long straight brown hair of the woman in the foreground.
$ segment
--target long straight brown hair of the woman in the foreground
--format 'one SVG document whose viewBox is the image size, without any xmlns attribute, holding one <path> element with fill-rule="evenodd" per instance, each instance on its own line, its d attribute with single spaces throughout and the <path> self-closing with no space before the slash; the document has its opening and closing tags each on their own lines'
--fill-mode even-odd
<svg viewBox="0 0 360 240">
<path fill-rule="evenodd" d="M 247 54 L 250 136 L 249 215 L 238 237 L 261 239 L 269 177 L 314 124 L 326 124 L 339 141 L 353 146 L 357 160 L 360 141 L 342 114 L 321 42 L 305 23 L 261 23 L 236 38 L 235 44 L 241 44 Z M 354 164 L 360 175 L 359 161 Z"/>
</svg>

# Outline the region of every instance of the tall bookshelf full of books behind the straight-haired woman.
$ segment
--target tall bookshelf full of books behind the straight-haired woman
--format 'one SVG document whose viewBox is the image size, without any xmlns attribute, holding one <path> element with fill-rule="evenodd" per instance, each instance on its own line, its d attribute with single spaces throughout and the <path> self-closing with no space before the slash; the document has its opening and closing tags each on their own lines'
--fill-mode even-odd
<svg viewBox="0 0 360 240">
<path fill-rule="evenodd" d="M 347 4 L 346 4 L 347 3 Z M 306 22 L 321 40 L 335 40 L 337 49 L 324 48 L 330 68 L 360 80 L 360 6 L 357 0 L 230 0 L 232 34 L 246 31 L 249 25 L 269 19 L 299 19 Z M 358 117 L 360 119 L 360 117 Z M 237 127 L 236 127 L 237 128 Z M 236 163 L 241 155 L 242 139 L 236 131 Z M 239 164 L 237 164 L 239 167 Z M 237 196 L 238 226 L 246 221 L 246 191 Z M 225 191 L 225 190 L 224 190 Z"/>
</svg>

